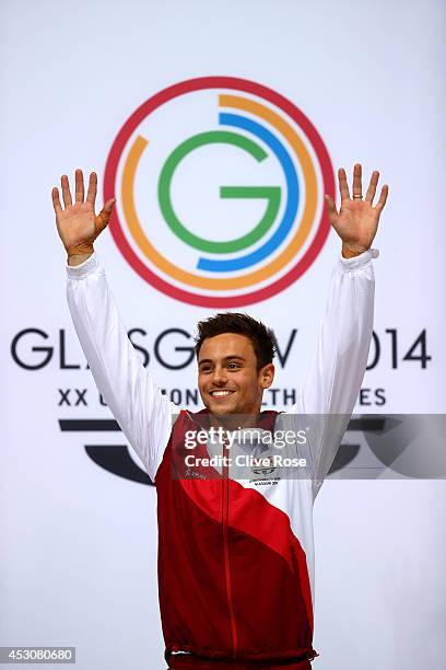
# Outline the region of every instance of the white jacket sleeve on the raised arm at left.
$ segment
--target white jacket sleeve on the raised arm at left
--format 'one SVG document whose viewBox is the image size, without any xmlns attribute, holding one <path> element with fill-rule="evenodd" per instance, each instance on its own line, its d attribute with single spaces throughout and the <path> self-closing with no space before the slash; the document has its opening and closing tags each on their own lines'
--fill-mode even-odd
<svg viewBox="0 0 446 670">
<path fill-rule="evenodd" d="M 96 386 L 153 481 L 178 413 L 138 359 L 96 253 L 67 268 L 67 299 Z"/>
</svg>

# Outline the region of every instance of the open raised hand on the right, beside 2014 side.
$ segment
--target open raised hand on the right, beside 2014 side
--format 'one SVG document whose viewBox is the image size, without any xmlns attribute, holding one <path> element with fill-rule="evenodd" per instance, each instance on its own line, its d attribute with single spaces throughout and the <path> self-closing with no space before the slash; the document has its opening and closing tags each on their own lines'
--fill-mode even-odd
<svg viewBox="0 0 446 670">
<path fill-rule="evenodd" d="M 360 254 L 372 246 L 376 235 L 379 216 L 387 200 L 388 186 L 384 185 L 376 206 L 373 199 L 379 180 L 375 170 L 367 188 L 365 199 L 362 196 L 362 166 L 356 163 L 353 169 L 353 195 L 350 197 L 345 170 L 338 171 L 339 190 L 341 195 L 340 210 L 336 208 L 331 196 L 326 196 L 327 212 L 330 224 L 342 240 L 343 247 L 353 254 Z"/>
</svg>

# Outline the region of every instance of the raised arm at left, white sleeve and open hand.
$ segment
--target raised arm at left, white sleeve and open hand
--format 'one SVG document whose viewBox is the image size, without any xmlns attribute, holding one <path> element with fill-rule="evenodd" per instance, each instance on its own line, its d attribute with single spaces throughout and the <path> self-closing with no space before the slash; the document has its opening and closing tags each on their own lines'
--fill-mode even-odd
<svg viewBox="0 0 446 670">
<path fill-rule="evenodd" d="M 96 217 L 96 175 L 90 175 L 83 201 L 83 176 L 75 174 L 75 203 L 62 176 L 64 209 L 52 189 L 56 223 L 68 254 L 67 298 L 74 328 L 97 389 L 152 480 L 167 443 L 175 405 L 144 369 L 119 316 L 93 242 L 106 228 L 114 200 Z"/>
</svg>

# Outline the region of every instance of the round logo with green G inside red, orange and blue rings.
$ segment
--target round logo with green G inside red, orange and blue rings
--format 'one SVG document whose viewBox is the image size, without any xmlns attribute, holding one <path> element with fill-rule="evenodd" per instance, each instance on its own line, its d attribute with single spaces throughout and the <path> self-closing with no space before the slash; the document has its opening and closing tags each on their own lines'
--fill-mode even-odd
<svg viewBox="0 0 446 670">
<path fill-rule="evenodd" d="M 190 304 L 235 308 L 296 281 L 320 252 L 334 195 L 309 119 L 259 83 L 176 83 L 128 118 L 109 152 L 111 234 L 140 277 Z"/>
</svg>

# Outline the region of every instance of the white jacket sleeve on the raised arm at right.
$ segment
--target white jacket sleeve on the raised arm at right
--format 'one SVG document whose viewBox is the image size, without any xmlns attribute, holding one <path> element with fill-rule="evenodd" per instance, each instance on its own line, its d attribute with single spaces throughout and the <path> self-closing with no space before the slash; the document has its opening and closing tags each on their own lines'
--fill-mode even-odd
<svg viewBox="0 0 446 670">
<path fill-rule="evenodd" d="M 373 333 L 375 276 L 371 249 L 341 254 L 332 270 L 325 317 L 293 412 L 310 417 L 314 497 L 328 474 L 356 403 Z M 310 435 L 313 432 L 313 435 Z"/>
</svg>

